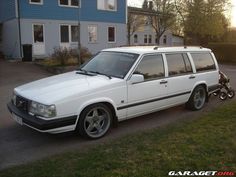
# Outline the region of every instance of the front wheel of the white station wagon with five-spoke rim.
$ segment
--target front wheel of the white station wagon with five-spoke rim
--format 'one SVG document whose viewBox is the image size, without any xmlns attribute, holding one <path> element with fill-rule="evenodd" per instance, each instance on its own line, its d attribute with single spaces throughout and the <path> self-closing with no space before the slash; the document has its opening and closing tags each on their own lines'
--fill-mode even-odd
<svg viewBox="0 0 236 177">
<path fill-rule="evenodd" d="M 77 130 L 84 138 L 101 138 L 110 129 L 112 118 L 112 112 L 105 104 L 88 106 L 80 115 Z"/>
</svg>

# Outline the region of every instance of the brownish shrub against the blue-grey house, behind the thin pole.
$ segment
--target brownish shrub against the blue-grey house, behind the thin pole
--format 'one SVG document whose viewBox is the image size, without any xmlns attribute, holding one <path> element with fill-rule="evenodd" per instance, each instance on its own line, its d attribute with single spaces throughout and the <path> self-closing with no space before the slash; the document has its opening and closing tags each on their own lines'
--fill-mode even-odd
<svg viewBox="0 0 236 177">
<path fill-rule="evenodd" d="M 81 48 L 81 60 L 84 63 L 87 59 L 91 58 L 92 54 L 85 47 Z M 53 60 L 59 63 L 59 65 L 71 65 L 78 64 L 78 50 L 66 47 L 54 48 L 54 52 L 51 55 Z"/>
</svg>

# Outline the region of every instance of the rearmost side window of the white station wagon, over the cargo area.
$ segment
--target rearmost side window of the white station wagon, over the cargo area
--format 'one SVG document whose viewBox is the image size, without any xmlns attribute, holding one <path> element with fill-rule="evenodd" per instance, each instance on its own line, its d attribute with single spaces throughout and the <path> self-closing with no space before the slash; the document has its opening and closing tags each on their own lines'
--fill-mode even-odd
<svg viewBox="0 0 236 177">
<path fill-rule="evenodd" d="M 197 71 L 208 71 L 216 69 L 210 53 L 192 53 L 193 62 Z"/>
</svg>

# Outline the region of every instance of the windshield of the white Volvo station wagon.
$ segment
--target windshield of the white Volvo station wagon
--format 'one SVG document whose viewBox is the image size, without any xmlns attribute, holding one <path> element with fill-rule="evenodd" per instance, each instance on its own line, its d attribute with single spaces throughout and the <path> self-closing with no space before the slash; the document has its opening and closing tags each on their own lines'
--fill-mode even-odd
<svg viewBox="0 0 236 177">
<path fill-rule="evenodd" d="M 138 54 L 131 53 L 100 52 L 81 70 L 123 79 L 138 56 Z"/>
</svg>

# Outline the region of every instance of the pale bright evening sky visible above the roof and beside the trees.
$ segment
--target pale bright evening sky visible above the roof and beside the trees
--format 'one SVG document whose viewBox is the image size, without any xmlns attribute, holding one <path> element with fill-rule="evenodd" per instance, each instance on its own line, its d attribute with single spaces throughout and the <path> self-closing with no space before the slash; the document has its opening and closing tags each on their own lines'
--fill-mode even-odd
<svg viewBox="0 0 236 177">
<path fill-rule="evenodd" d="M 141 7 L 143 0 L 128 0 L 128 4 L 132 6 Z M 236 27 L 236 0 L 231 0 L 232 10 L 231 10 L 231 26 Z"/>
</svg>

